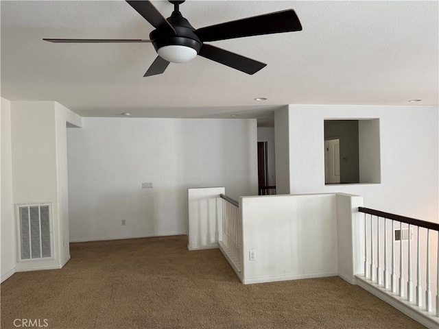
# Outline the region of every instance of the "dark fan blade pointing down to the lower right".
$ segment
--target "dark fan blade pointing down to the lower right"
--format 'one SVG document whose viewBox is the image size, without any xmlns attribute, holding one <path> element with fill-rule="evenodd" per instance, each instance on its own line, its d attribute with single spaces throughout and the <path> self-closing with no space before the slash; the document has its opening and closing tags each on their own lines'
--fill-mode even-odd
<svg viewBox="0 0 439 329">
<path fill-rule="evenodd" d="M 230 51 L 206 44 L 202 45 L 198 55 L 220 64 L 230 66 L 233 69 L 237 69 L 247 74 L 257 73 L 257 71 L 263 69 L 267 65 L 265 63 L 258 62 L 257 60 L 252 60 L 251 58 L 238 55 L 237 53 L 232 53 Z"/>
</svg>

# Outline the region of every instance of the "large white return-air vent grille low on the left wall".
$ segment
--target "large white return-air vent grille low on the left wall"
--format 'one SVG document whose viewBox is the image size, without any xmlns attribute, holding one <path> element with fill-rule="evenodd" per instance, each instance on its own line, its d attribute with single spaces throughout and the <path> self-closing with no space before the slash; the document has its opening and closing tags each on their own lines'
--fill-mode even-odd
<svg viewBox="0 0 439 329">
<path fill-rule="evenodd" d="M 51 204 L 17 205 L 19 217 L 19 259 L 53 258 Z"/>
</svg>

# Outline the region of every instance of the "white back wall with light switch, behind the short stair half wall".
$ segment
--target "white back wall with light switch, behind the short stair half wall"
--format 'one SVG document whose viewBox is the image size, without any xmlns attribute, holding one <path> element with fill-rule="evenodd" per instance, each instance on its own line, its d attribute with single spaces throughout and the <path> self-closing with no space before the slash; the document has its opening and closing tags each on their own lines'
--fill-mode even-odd
<svg viewBox="0 0 439 329">
<path fill-rule="evenodd" d="M 68 156 L 71 241 L 187 234 L 187 188 L 257 195 L 253 119 L 84 118 Z"/>
</svg>

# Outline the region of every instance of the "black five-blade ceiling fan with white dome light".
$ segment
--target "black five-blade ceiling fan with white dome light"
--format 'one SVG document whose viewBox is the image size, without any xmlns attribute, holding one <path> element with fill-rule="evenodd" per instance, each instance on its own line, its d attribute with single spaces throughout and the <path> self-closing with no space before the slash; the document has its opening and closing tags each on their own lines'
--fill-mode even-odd
<svg viewBox="0 0 439 329">
<path fill-rule="evenodd" d="M 43 38 L 43 40 L 67 43 L 152 42 L 158 56 L 145 75 L 143 75 L 144 77 L 163 73 L 169 62 L 188 62 L 197 55 L 230 66 L 244 73 L 254 74 L 263 69 L 267 64 L 213 45 L 207 45 L 204 42 L 302 30 L 298 16 L 292 9 L 195 29 L 180 13 L 179 5 L 185 2 L 185 0 L 169 0 L 170 3 L 174 4 L 174 12 L 167 19 L 158 12 L 151 1 L 126 0 L 126 2 L 156 28 L 150 33 L 150 40 L 49 38 Z"/>
</svg>

